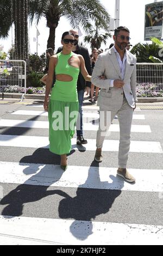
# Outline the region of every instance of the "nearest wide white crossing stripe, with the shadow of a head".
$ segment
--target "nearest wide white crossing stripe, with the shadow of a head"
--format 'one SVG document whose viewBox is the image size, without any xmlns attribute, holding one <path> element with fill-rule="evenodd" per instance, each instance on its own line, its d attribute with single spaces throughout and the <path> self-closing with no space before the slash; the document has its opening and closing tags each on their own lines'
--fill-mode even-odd
<svg viewBox="0 0 163 256">
<path fill-rule="evenodd" d="M 3 245 L 161 245 L 163 235 L 161 225 L 1 215 L 0 226 Z"/>
</svg>

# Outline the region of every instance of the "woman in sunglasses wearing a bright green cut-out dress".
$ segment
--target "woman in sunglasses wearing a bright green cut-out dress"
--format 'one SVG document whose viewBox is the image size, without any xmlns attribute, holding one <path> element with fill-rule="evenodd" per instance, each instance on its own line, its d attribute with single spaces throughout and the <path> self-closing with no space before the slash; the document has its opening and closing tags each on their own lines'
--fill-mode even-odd
<svg viewBox="0 0 163 256">
<path fill-rule="evenodd" d="M 75 37 L 71 32 L 62 34 L 62 52 L 51 57 L 49 61 L 48 79 L 44 109 L 49 118 L 49 150 L 61 156 L 60 166 L 67 169 L 67 154 L 71 151 L 71 138 L 78 118 L 77 80 L 79 71 L 86 81 L 91 76 L 85 68 L 84 58 L 72 52 Z M 51 92 L 53 76 L 56 82 Z M 51 92 L 51 99 L 48 100 Z"/>
</svg>

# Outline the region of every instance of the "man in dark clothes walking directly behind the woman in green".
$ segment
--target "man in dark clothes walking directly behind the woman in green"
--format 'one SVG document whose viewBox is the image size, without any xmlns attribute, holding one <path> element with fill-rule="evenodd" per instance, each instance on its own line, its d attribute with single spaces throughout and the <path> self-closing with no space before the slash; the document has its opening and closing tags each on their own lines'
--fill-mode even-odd
<svg viewBox="0 0 163 256">
<path fill-rule="evenodd" d="M 89 52 L 88 52 L 87 48 L 78 45 L 78 40 L 79 40 L 78 31 L 71 29 L 70 32 L 73 33 L 76 38 L 76 42 L 74 44 L 72 51 L 76 54 L 80 54 L 83 56 L 83 58 L 85 60 L 86 70 L 89 73 L 89 75 L 92 75 L 90 56 L 89 56 Z M 62 51 L 62 47 L 59 47 L 57 53 L 59 53 L 61 51 Z M 83 114 L 82 114 L 83 109 L 82 109 L 82 106 L 83 106 L 83 98 L 84 98 L 85 90 L 87 92 L 86 95 L 89 95 L 90 90 L 91 90 L 91 82 L 85 82 L 85 79 L 81 73 L 79 73 L 79 77 L 78 77 L 77 90 L 78 90 L 78 101 L 79 101 L 78 120 L 80 121 L 80 130 L 77 130 L 77 144 L 80 145 L 80 144 L 87 144 L 87 140 L 83 137 Z M 78 121 L 77 121 L 77 127 L 79 127 Z"/>
</svg>

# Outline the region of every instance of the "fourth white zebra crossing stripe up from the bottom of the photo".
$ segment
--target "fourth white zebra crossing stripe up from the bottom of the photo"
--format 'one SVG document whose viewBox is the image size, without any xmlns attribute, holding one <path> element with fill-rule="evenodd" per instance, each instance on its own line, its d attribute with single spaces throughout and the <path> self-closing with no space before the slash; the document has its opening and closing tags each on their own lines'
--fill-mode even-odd
<svg viewBox="0 0 163 256">
<path fill-rule="evenodd" d="M 0 126 L 8 127 L 28 127 L 28 128 L 39 128 L 48 129 L 48 121 L 28 121 L 28 120 L 11 120 L 11 119 L 1 119 Z M 84 123 L 84 131 L 97 131 L 98 124 Z M 109 132 L 119 132 L 120 127 L 118 124 L 112 124 L 109 128 Z M 151 132 L 149 125 L 131 125 L 131 132 Z"/>
</svg>

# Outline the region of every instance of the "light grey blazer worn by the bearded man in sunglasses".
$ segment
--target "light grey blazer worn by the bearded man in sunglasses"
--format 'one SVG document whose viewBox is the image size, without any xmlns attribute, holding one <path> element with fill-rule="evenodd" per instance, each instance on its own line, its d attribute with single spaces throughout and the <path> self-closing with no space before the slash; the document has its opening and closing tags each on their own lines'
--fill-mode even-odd
<svg viewBox="0 0 163 256">
<path fill-rule="evenodd" d="M 115 111 L 122 106 L 123 91 L 129 105 L 134 108 L 136 99 L 136 57 L 126 51 L 126 72 L 124 86 L 122 88 L 110 87 L 111 80 L 121 79 L 121 71 L 114 48 L 100 54 L 93 69 L 92 84 L 102 88 L 100 90 L 97 106 L 103 109 Z M 105 80 L 100 76 L 104 75 Z"/>
</svg>

